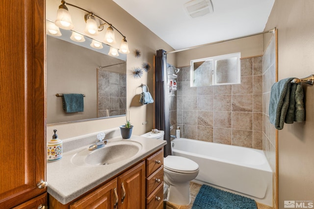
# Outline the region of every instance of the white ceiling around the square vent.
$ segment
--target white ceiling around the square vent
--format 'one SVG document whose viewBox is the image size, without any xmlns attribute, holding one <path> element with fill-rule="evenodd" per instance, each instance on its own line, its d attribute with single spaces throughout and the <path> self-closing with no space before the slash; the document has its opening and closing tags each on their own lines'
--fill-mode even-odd
<svg viewBox="0 0 314 209">
<path fill-rule="evenodd" d="M 274 0 L 211 0 L 213 12 L 191 18 L 190 0 L 113 0 L 174 49 L 208 44 L 264 30 Z"/>
</svg>

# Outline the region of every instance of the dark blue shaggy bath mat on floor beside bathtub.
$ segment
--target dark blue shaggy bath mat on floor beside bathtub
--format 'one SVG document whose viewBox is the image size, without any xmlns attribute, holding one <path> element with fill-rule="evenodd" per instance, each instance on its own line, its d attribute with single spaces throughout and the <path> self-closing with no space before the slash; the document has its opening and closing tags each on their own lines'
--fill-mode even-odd
<svg viewBox="0 0 314 209">
<path fill-rule="evenodd" d="M 203 185 L 196 195 L 192 209 L 257 209 L 254 200 Z"/>
</svg>

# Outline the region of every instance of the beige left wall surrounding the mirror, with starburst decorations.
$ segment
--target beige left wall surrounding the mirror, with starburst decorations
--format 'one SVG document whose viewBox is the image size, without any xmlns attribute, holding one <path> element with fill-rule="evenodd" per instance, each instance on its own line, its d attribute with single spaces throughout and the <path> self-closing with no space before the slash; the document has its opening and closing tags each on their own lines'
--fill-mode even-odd
<svg viewBox="0 0 314 209">
<path fill-rule="evenodd" d="M 134 125 L 133 134 L 144 134 L 153 128 L 154 123 L 154 104 L 141 105 L 139 103 L 139 94 L 142 83 L 147 84 L 150 92 L 154 93 L 154 68 L 140 79 L 132 77 L 131 70 L 134 67 L 140 67 L 143 62 L 149 62 L 153 66 L 153 58 L 157 49 L 164 49 L 166 51 L 173 50 L 168 44 L 158 38 L 152 31 L 146 28 L 142 23 L 139 23 L 125 10 L 119 7 L 112 0 L 76 0 L 74 3 L 80 7 L 93 11 L 100 17 L 112 23 L 117 27 L 126 37 L 129 43 L 130 54 L 127 56 L 127 108 L 130 110 L 131 123 Z M 59 0 L 47 0 L 47 6 L 52 5 L 54 8 L 47 8 L 47 19 L 54 21 Z M 69 6 L 71 12 L 75 9 Z M 74 23 L 75 24 L 75 23 Z M 75 26 L 80 29 L 80 26 Z M 122 37 L 116 35 L 117 42 Z M 135 58 L 133 52 L 135 49 L 141 51 L 141 57 Z M 168 62 L 176 64 L 174 54 L 167 56 Z M 143 121 L 148 121 L 147 124 L 142 125 Z M 60 139 L 67 139 L 75 136 L 80 136 L 88 133 L 98 132 L 106 129 L 116 128 L 125 123 L 125 117 L 116 117 L 109 119 L 101 119 L 89 122 L 79 122 L 73 124 L 64 124 L 47 127 L 47 139 L 51 139 L 52 130 L 58 130 Z"/>
</svg>

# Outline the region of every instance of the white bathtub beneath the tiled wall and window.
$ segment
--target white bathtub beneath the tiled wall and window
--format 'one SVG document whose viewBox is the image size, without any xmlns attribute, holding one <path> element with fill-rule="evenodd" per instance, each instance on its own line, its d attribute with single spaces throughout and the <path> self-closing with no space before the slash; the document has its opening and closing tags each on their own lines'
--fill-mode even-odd
<svg viewBox="0 0 314 209">
<path fill-rule="evenodd" d="M 272 206 L 272 170 L 262 150 L 174 139 L 172 154 L 199 164 L 196 183 L 220 187 Z"/>
</svg>

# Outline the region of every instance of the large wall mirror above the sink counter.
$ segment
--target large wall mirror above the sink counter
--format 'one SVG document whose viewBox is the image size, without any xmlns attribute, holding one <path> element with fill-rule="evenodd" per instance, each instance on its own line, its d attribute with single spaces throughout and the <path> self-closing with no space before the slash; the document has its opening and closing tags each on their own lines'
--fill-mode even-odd
<svg viewBox="0 0 314 209">
<path fill-rule="evenodd" d="M 47 35 L 47 124 L 125 115 L 126 55 L 109 56 L 108 46 L 94 49 L 86 36 L 79 43 L 70 39 L 72 31 L 61 33 Z M 56 96 L 65 93 L 85 95 L 83 112 L 65 113 Z"/>
</svg>

